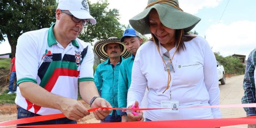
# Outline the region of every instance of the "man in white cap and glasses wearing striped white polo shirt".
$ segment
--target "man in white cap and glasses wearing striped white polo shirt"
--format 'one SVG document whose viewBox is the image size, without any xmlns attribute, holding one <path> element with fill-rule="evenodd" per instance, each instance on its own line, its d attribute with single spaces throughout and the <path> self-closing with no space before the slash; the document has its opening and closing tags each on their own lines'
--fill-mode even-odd
<svg viewBox="0 0 256 128">
<path fill-rule="evenodd" d="M 78 82 L 80 95 L 91 108 L 112 107 L 99 97 L 94 84 L 91 46 L 77 38 L 89 22 L 96 24 L 86 0 L 60 0 L 56 23 L 19 37 L 15 99 L 18 118 L 56 113 L 67 117 L 22 125 L 74 124 L 89 115 L 87 108 L 77 101 Z M 97 109 L 93 113 L 101 120 L 110 112 Z"/>
</svg>

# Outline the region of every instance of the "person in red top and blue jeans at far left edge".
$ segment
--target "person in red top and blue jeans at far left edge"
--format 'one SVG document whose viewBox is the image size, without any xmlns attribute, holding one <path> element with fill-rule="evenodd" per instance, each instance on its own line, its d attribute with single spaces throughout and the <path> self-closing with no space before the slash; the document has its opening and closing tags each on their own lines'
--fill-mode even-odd
<svg viewBox="0 0 256 128">
<path fill-rule="evenodd" d="M 13 57 L 11 60 L 10 72 L 9 72 L 8 76 L 10 76 L 10 84 L 9 84 L 9 92 L 7 94 L 16 93 L 17 83 L 15 84 L 15 87 L 14 87 L 14 82 L 16 79 L 15 57 Z"/>
</svg>

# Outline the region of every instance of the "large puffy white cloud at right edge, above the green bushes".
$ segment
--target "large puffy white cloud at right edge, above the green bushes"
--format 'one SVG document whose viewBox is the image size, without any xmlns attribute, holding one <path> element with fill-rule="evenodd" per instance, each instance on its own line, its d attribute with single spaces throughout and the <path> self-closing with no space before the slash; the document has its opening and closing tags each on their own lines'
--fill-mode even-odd
<svg viewBox="0 0 256 128">
<path fill-rule="evenodd" d="M 230 25 L 223 23 L 211 25 L 206 30 L 206 39 L 214 52 L 222 56 L 242 54 L 248 57 L 251 50 L 256 48 L 256 22 L 243 20 Z"/>
</svg>

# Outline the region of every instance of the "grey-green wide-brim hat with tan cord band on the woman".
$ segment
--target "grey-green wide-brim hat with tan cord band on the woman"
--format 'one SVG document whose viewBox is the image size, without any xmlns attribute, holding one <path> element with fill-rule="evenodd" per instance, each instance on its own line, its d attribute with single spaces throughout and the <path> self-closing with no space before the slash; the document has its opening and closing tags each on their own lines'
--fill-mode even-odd
<svg viewBox="0 0 256 128">
<path fill-rule="evenodd" d="M 178 0 L 148 0 L 148 6 L 143 12 L 129 20 L 130 25 L 141 34 L 150 34 L 148 13 L 157 10 L 162 24 L 170 29 L 184 29 L 187 33 L 201 20 L 199 17 L 183 12 Z"/>
</svg>

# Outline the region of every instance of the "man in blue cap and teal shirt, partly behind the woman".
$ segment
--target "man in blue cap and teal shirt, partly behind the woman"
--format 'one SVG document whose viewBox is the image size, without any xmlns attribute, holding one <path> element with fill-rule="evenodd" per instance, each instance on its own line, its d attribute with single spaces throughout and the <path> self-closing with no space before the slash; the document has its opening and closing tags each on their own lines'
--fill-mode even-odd
<svg viewBox="0 0 256 128">
<path fill-rule="evenodd" d="M 131 85 L 132 77 L 132 65 L 136 55 L 136 52 L 142 44 L 142 39 L 137 31 L 132 28 L 126 29 L 121 38 L 121 42 L 124 42 L 126 49 L 132 53 L 132 55 L 125 59 L 120 65 L 119 79 L 118 79 L 118 107 L 127 107 L 127 92 Z M 128 113 L 131 114 L 131 113 Z M 127 113 L 120 111 L 122 122 L 128 121 Z"/>
</svg>

